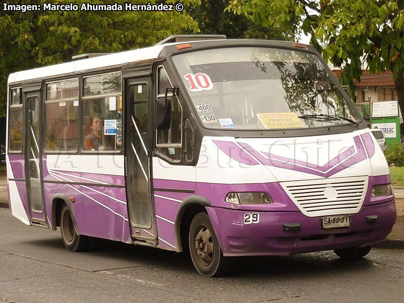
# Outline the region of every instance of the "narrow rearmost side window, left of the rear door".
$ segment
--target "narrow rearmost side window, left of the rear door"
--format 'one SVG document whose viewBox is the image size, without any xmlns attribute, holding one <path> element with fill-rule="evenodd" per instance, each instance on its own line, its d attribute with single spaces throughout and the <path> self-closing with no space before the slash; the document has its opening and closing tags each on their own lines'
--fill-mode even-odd
<svg viewBox="0 0 404 303">
<path fill-rule="evenodd" d="M 21 153 L 22 151 L 22 88 L 13 88 L 10 90 L 10 144 L 9 151 Z"/>
</svg>

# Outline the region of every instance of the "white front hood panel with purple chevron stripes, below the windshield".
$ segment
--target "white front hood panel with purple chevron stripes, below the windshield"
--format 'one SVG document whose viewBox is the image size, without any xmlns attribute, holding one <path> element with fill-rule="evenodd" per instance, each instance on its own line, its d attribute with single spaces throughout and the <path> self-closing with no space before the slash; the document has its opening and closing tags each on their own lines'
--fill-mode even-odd
<svg viewBox="0 0 404 303">
<path fill-rule="evenodd" d="M 196 166 L 196 181 L 245 184 L 388 175 L 387 162 L 373 136 L 370 137 L 374 144 L 374 154 L 370 158 L 367 156 L 361 135 L 368 133 L 369 130 L 364 129 L 351 133 L 295 138 L 204 137 Z M 251 147 L 258 154 L 247 153 L 248 157 L 256 160 L 259 165 L 246 165 L 235 157 L 229 157 L 215 141 L 230 142 L 235 149 L 244 151 L 248 151 L 244 149 L 245 146 Z M 358 156 L 361 153 L 363 159 L 356 161 L 352 158 L 360 158 Z M 283 159 L 275 161 L 268 158 L 268 155 Z M 263 159 L 265 164 L 262 163 Z M 283 164 L 293 168 L 285 168 Z"/>
</svg>

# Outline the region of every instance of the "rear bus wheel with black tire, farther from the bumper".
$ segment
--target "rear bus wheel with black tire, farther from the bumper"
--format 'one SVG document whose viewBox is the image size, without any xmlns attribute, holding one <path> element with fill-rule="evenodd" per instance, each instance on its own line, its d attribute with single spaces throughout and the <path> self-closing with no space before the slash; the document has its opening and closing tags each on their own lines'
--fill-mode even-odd
<svg viewBox="0 0 404 303">
<path fill-rule="evenodd" d="M 94 244 L 94 238 L 76 233 L 70 210 L 66 204 L 63 205 L 60 212 L 60 231 L 63 244 L 67 250 L 83 251 L 91 249 Z"/>
</svg>

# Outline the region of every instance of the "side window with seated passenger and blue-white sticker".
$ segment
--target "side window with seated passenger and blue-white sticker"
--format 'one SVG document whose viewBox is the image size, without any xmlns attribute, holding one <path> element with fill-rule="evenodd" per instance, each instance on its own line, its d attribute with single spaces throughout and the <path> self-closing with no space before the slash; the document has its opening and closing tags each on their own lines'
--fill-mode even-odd
<svg viewBox="0 0 404 303">
<path fill-rule="evenodd" d="M 83 78 L 83 150 L 122 149 L 122 74 L 109 73 Z"/>
</svg>

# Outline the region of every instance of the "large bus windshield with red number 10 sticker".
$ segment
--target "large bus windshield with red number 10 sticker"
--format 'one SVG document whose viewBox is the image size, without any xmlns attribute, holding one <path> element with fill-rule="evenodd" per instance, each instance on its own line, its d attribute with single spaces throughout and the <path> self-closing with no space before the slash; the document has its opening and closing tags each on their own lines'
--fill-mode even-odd
<svg viewBox="0 0 404 303">
<path fill-rule="evenodd" d="M 361 121 L 312 54 L 232 47 L 179 54 L 173 61 L 208 128 L 310 128 Z"/>
</svg>

